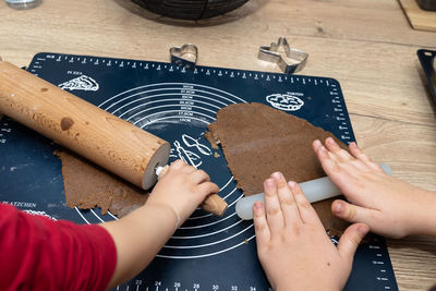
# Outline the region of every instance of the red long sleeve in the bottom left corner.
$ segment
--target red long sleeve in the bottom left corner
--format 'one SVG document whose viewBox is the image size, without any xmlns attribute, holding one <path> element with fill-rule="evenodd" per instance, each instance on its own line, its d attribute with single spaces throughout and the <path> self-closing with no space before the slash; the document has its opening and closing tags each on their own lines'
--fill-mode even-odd
<svg viewBox="0 0 436 291">
<path fill-rule="evenodd" d="M 105 290 L 116 264 L 104 228 L 0 204 L 0 290 Z"/>
</svg>

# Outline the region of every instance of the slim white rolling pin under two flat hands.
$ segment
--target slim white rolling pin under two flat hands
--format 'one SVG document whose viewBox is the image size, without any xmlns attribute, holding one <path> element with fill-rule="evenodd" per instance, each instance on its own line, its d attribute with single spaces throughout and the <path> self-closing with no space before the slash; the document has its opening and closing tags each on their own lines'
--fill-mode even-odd
<svg viewBox="0 0 436 291">
<path fill-rule="evenodd" d="M 380 163 L 380 167 L 387 174 L 392 174 L 392 170 L 388 165 Z M 311 203 L 328 199 L 341 194 L 340 190 L 328 177 L 303 182 L 299 185 Z M 244 220 L 253 219 L 253 205 L 256 201 L 265 203 L 265 194 L 254 194 L 239 199 L 235 206 L 238 216 Z"/>
</svg>

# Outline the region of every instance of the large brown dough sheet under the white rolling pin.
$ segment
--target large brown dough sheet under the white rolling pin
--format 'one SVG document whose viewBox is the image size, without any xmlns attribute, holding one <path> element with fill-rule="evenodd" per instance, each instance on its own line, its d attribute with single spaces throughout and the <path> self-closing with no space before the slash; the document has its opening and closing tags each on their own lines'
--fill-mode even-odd
<svg viewBox="0 0 436 291">
<path fill-rule="evenodd" d="M 315 140 L 328 136 L 347 146 L 330 132 L 262 104 L 237 104 L 220 109 L 208 126 L 208 141 L 220 144 L 238 187 L 246 196 L 263 192 L 263 181 L 280 171 L 298 183 L 325 177 L 312 149 Z M 324 227 L 340 234 L 349 223 L 331 214 L 331 199 L 312 204 Z"/>
</svg>

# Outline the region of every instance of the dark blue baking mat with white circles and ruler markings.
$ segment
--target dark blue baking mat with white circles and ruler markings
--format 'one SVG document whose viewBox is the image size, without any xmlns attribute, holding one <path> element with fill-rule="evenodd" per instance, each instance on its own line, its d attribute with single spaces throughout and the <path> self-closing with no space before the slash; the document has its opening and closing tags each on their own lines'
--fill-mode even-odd
<svg viewBox="0 0 436 291">
<path fill-rule="evenodd" d="M 229 204 L 223 217 L 197 209 L 154 262 L 118 290 L 268 290 L 252 221 L 234 213 L 242 197 L 220 149 L 205 140 L 216 112 L 263 102 L 306 119 L 344 143 L 354 141 L 336 80 L 149 61 L 38 53 L 28 70 L 48 82 L 167 140 L 171 159 L 209 173 Z M 255 118 L 255 117 L 254 117 Z M 117 219 L 65 206 L 61 162 L 47 138 L 9 118 L 0 122 L 0 201 L 77 223 Z M 150 233 L 153 235 L 153 233 Z M 301 278 L 304 280 L 304 278 Z M 385 240 L 371 237 L 355 255 L 346 290 L 398 290 Z"/>
</svg>

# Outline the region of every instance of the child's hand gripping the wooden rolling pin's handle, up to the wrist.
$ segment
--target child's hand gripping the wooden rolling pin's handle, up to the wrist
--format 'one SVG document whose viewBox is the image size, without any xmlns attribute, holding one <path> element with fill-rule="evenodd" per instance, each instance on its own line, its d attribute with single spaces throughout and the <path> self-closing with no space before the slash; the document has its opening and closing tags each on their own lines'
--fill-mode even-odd
<svg viewBox="0 0 436 291">
<path fill-rule="evenodd" d="M 179 218 L 180 226 L 207 195 L 218 192 L 219 187 L 210 182 L 205 171 L 177 160 L 155 185 L 147 204 L 170 207 Z"/>
</svg>

